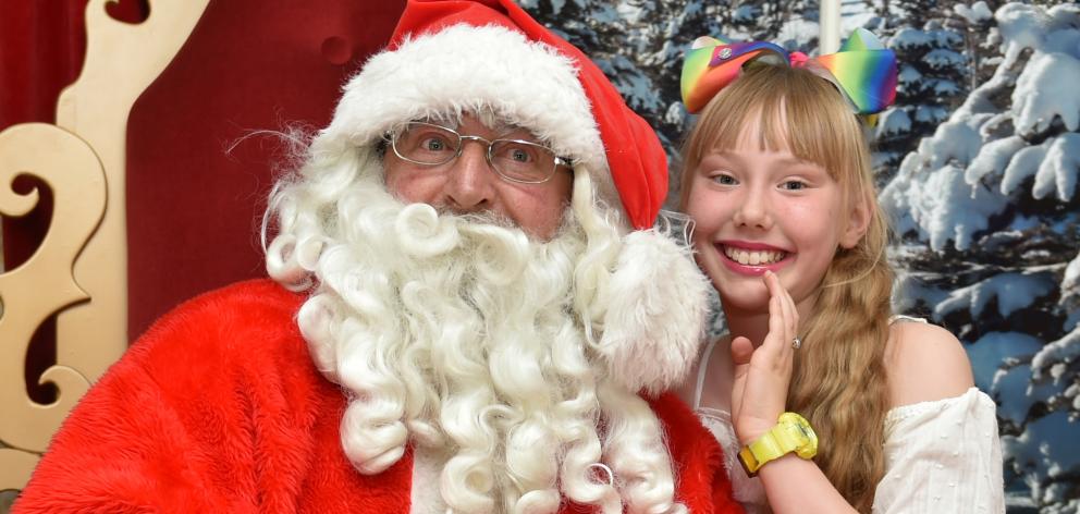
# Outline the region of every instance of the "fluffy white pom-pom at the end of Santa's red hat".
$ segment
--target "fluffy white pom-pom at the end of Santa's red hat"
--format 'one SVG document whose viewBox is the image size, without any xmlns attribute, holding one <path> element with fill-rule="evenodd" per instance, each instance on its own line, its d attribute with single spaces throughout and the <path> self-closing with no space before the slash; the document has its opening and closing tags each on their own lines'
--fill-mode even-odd
<svg viewBox="0 0 1080 514">
<path fill-rule="evenodd" d="M 655 230 L 628 234 L 598 347 L 611 377 L 649 393 L 682 382 L 698 356 L 710 286 L 686 247 Z"/>
</svg>

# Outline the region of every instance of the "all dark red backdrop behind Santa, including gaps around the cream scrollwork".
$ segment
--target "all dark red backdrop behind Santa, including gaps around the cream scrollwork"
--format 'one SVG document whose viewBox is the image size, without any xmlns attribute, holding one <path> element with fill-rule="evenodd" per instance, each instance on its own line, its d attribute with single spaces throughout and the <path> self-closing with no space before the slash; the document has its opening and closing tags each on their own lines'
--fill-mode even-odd
<svg viewBox="0 0 1080 514">
<path fill-rule="evenodd" d="M 0 0 L 0 130 L 54 121 L 57 96 L 82 66 L 86 3 Z M 126 23 L 152 15 L 146 0 L 106 5 Z M 403 8 L 404 0 L 209 3 L 128 120 L 131 339 L 187 297 L 265 274 L 257 229 L 287 156 L 277 138 L 251 134 L 326 125 L 341 86 L 385 44 Z M 34 186 L 19 182 L 20 191 Z M 48 204 L 3 220 L 5 269 L 40 243 Z M 49 352 L 48 342 L 32 347 L 32 381 L 54 360 Z"/>
</svg>

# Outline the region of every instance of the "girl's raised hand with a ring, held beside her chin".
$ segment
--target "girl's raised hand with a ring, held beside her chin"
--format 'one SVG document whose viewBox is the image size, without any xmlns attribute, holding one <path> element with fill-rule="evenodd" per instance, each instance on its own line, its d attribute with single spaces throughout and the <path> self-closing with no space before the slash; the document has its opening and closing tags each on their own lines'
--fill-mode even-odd
<svg viewBox="0 0 1080 514">
<path fill-rule="evenodd" d="M 796 352 L 791 343 L 799 327 L 795 302 L 780 278 L 766 271 L 763 280 L 770 294 L 765 340 L 757 348 L 741 335 L 732 340 L 732 419 L 742 444 L 772 429 L 785 409 Z"/>
</svg>

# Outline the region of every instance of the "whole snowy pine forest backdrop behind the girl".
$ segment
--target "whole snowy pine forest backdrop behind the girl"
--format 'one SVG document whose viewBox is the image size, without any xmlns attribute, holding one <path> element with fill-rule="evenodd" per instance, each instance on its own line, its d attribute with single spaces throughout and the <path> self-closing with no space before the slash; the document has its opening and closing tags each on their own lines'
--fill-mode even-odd
<svg viewBox="0 0 1080 514">
<path fill-rule="evenodd" d="M 519 0 L 582 48 L 677 146 L 696 37 L 817 54 L 818 2 Z M 894 218 L 898 311 L 967 346 L 998 403 L 1009 513 L 1080 512 L 1080 8 L 1072 2 L 844 0 L 900 60 L 874 128 Z M 673 182 L 668 205 L 674 207 Z"/>
</svg>

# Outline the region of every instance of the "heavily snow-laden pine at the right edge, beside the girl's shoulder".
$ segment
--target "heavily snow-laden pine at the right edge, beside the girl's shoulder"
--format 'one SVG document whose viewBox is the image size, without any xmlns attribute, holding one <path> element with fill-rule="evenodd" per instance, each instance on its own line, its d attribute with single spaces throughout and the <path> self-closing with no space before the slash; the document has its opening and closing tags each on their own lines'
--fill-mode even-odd
<svg viewBox="0 0 1080 514">
<path fill-rule="evenodd" d="M 1008 3 L 987 25 L 993 75 L 882 192 L 904 236 L 897 301 L 968 344 L 999 405 L 1010 511 L 1076 513 L 1080 8 Z"/>
</svg>

